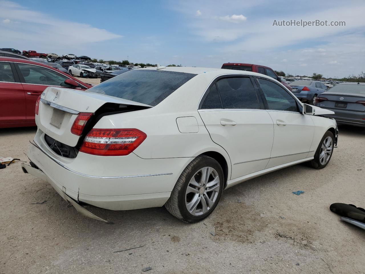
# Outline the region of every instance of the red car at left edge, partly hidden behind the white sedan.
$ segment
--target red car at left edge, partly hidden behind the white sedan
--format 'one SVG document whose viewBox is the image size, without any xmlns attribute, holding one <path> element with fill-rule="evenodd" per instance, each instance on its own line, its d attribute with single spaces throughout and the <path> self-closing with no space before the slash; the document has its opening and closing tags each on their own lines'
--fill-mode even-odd
<svg viewBox="0 0 365 274">
<path fill-rule="evenodd" d="M 0 128 L 35 126 L 35 103 L 49 86 L 77 90 L 92 87 L 51 66 L 0 57 Z"/>
</svg>

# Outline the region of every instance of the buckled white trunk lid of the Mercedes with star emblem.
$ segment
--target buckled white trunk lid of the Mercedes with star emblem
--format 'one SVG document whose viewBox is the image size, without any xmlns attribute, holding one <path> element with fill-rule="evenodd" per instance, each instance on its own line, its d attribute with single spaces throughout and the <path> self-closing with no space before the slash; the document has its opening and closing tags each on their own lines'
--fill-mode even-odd
<svg viewBox="0 0 365 274">
<path fill-rule="evenodd" d="M 105 113 L 116 114 L 150 107 L 147 104 L 94 92 L 47 87 L 41 95 L 36 123 L 38 128 L 51 138 L 69 146 L 76 146 L 80 138 L 84 138 L 83 135 L 71 133 L 78 113 L 94 113 L 95 120 Z M 93 122 L 95 125 L 96 121 Z"/>
</svg>

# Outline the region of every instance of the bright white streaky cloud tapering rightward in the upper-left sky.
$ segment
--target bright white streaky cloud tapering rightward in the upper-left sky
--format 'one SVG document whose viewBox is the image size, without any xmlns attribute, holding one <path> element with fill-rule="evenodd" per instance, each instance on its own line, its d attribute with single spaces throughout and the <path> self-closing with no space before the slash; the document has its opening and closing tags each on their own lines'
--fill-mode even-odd
<svg viewBox="0 0 365 274">
<path fill-rule="evenodd" d="M 90 24 L 57 19 L 10 1 L 0 1 L 0 18 L 20 22 L 0 28 L 3 43 L 23 45 L 24 41 L 27 41 L 27 46 L 37 45 L 39 51 L 47 51 L 50 48 L 56 50 L 57 47 L 65 46 L 71 50 L 80 45 L 122 37 Z"/>
</svg>

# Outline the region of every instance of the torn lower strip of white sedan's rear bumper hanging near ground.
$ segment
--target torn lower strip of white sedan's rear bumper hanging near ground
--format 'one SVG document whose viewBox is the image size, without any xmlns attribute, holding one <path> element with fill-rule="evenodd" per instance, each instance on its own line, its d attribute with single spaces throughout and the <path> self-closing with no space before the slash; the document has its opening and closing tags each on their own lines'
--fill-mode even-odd
<svg viewBox="0 0 365 274">
<path fill-rule="evenodd" d="M 95 214 L 89 212 L 88 210 L 83 208 L 81 205 L 79 205 L 74 199 L 72 199 L 69 195 L 64 193 L 64 191 L 59 189 L 58 186 L 56 186 L 56 184 L 52 180 L 50 180 L 48 178 L 48 176 L 46 174 L 44 174 L 43 171 L 41 171 L 40 169 L 35 168 L 35 167 L 31 167 L 30 165 L 27 165 L 27 164 L 24 164 L 24 163 L 22 163 L 21 165 L 22 165 L 22 170 L 23 170 L 24 173 L 29 173 L 29 174 L 31 174 L 31 175 L 39 178 L 39 179 L 45 180 L 48 183 L 50 183 L 51 186 L 55 189 L 55 191 L 57 191 L 57 193 L 62 198 L 64 198 L 65 201 L 70 202 L 74 206 L 74 208 L 77 210 L 77 212 L 81 213 L 82 215 L 84 215 L 86 217 L 93 218 L 93 219 L 96 219 L 96 220 L 99 220 L 99 221 L 107 222 L 104 219 L 102 219 L 102 218 L 96 216 Z"/>
</svg>

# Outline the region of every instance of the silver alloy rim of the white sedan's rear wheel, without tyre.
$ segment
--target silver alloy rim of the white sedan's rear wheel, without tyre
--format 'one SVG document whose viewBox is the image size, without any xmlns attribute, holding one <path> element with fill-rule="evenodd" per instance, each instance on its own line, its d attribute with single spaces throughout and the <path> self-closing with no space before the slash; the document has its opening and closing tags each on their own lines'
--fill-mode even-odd
<svg viewBox="0 0 365 274">
<path fill-rule="evenodd" d="M 212 167 L 203 167 L 190 179 L 185 192 L 185 206 L 193 216 L 207 213 L 219 196 L 220 179 Z"/>
</svg>

